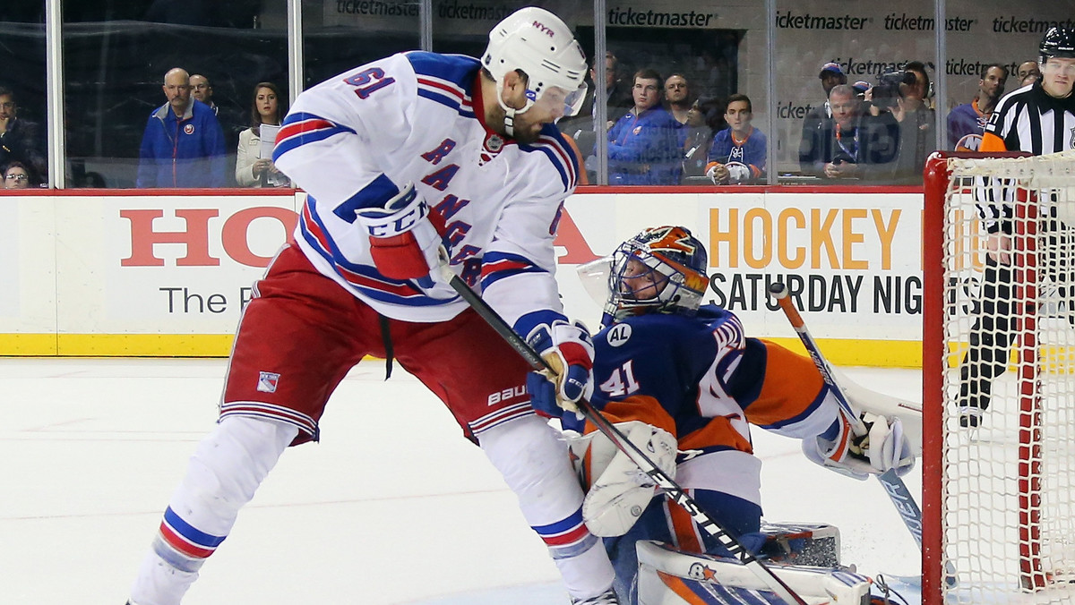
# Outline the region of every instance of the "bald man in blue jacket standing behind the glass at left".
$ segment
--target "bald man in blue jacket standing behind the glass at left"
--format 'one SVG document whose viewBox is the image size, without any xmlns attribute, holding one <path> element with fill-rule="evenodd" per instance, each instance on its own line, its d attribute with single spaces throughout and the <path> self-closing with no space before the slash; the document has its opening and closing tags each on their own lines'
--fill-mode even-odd
<svg viewBox="0 0 1075 605">
<path fill-rule="evenodd" d="M 168 102 L 149 114 L 142 135 L 139 187 L 224 187 L 224 132 L 205 103 L 190 98 L 187 72 L 164 74 Z"/>
</svg>

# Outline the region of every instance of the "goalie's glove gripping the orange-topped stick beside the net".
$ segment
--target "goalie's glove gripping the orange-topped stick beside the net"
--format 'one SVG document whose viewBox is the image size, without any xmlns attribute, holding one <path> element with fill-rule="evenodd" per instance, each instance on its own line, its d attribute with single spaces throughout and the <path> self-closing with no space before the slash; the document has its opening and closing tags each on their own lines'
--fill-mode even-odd
<svg viewBox="0 0 1075 605">
<path fill-rule="evenodd" d="M 861 417 L 866 427 L 864 435 L 855 435 L 841 416 L 826 434 L 803 440 L 803 453 L 826 469 L 859 480 L 889 470 L 901 476 L 907 474 L 915 466 L 915 455 L 900 419 L 869 412 Z"/>
</svg>

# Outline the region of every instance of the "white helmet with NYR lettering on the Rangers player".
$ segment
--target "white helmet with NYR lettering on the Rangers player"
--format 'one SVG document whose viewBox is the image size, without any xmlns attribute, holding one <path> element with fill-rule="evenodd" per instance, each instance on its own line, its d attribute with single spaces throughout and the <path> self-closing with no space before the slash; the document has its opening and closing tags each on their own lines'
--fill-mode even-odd
<svg viewBox="0 0 1075 605">
<path fill-rule="evenodd" d="M 482 67 L 497 84 L 511 71 L 526 73 L 527 104 L 522 109 L 507 107 L 497 95 L 510 117 L 539 102 L 562 103 L 563 115 L 573 116 L 586 97 L 586 54 L 567 24 L 545 9 L 526 6 L 497 24 L 489 32 Z"/>
</svg>

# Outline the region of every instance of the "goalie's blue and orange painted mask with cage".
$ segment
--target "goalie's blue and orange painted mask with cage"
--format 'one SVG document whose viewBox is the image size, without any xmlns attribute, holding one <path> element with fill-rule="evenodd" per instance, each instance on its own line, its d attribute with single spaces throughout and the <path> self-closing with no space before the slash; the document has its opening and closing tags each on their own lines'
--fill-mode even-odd
<svg viewBox="0 0 1075 605">
<path fill-rule="evenodd" d="M 693 315 L 710 284 L 707 257 L 684 227 L 646 229 L 616 248 L 608 275 L 605 326 L 645 313 Z"/>
</svg>

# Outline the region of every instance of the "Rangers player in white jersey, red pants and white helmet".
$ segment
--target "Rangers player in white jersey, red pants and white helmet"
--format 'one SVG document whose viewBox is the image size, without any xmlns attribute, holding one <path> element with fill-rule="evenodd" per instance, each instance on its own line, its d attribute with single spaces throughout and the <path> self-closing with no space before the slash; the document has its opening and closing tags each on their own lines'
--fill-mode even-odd
<svg viewBox="0 0 1075 605">
<path fill-rule="evenodd" d="M 546 344 L 557 397 L 590 388 L 592 346 L 563 315 L 553 248 L 579 173 L 554 123 L 577 111 L 585 73 L 563 21 L 526 8 L 481 59 L 404 53 L 298 97 L 273 160 L 309 197 L 244 311 L 219 422 L 169 502 L 133 605 L 181 602 L 280 455 L 317 441 L 329 395 L 367 355 L 441 398 L 517 495 L 572 603 L 616 603 L 527 364 L 432 271 L 443 247 L 519 334 Z"/>
</svg>

